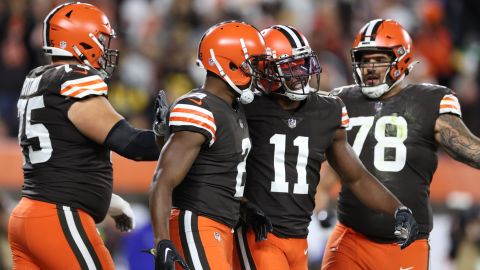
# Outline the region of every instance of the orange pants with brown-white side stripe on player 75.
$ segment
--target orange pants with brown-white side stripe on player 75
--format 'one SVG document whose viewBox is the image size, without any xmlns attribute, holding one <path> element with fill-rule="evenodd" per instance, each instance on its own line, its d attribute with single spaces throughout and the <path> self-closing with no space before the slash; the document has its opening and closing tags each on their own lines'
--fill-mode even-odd
<svg viewBox="0 0 480 270">
<path fill-rule="evenodd" d="M 65 205 L 22 198 L 8 241 L 15 270 L 114 269 L 92 217 Z"/>
</svg>

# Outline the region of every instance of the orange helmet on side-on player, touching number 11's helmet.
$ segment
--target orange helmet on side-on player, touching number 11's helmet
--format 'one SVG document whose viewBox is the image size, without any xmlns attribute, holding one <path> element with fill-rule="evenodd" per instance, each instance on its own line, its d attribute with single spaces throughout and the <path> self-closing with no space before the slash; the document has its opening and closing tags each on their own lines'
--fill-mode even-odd
<svg viewBox="0 0 480 270">
<path fill-rule="evenodd" d="M 197 65 L 222 78 L 244 104 L 253 100 L 252 87 L 268 56 L 258 30 L 245 22 L 227 21 L 205 32 L 198 45 Z"/>
</svg>

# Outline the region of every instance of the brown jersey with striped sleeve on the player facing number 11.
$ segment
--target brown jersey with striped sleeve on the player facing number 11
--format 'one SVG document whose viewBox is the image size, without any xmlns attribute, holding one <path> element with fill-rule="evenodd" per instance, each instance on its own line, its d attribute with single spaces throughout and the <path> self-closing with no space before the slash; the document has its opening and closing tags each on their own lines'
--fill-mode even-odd
<svg viewBox="0 0 480 270">
<path fill-rule="evenodd" d="M 173 190 L 173 206 L 235 227 L 251 146 L 242 105 L 234 101 L 232 107 L 196 89 L 179 98 L 167 117 L 170 132 L 198 132 L 206 138 L 184 180 Z"/>
</svg>

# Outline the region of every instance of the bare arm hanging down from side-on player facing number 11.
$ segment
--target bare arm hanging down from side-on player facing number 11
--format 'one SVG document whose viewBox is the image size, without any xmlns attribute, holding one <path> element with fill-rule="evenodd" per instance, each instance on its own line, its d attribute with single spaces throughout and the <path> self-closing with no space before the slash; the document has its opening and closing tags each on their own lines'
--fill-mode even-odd
<svg viewBox="0 0 480 270">
<path fill-rule="evenodd" d="M 150 216 L 155 246 L 162 239 L 170 239 L 172 191 L 183 181 L 205 139 L 200 133 L 181 131 L 173 133 L 163 147 L 150 190 Z"/>
</svg>

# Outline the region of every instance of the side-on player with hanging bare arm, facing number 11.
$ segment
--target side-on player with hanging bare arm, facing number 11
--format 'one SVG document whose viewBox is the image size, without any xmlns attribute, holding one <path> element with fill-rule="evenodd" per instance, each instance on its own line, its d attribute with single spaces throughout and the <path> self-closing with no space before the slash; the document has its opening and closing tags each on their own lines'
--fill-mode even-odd
<svg viewBox="0 0 480 270">
<path fill-rule="evenodd" d="M 232 268 L 251 147 L 239 101 L 252 101 L 266 60 L 260 32 L 244 22 L 214 25 L 200 40 L 197 63 L 206 81 L 171 105 L 150 193 L 157 270 L 175 262 L 190 269 Z"/>
</svg>

